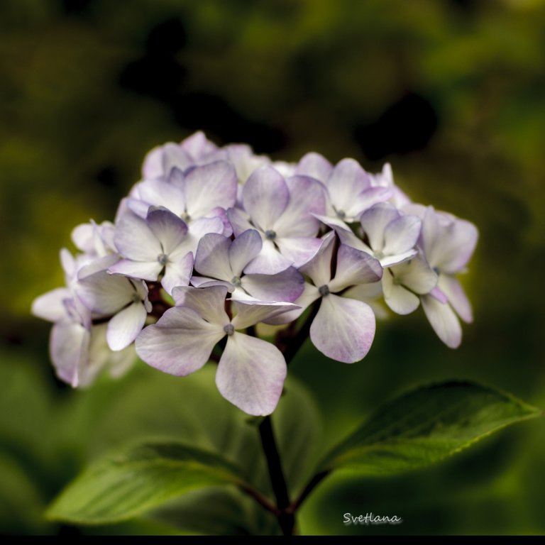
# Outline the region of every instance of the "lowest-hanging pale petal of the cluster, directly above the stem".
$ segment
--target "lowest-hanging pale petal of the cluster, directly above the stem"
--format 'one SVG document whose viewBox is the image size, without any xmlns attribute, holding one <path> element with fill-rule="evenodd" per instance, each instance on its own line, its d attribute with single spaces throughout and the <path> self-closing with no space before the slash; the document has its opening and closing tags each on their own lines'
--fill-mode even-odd
<svg viewBox="0 0 545 545">
<path fill-rule="evenodd" d="M 221 395 L 254 416 L 275 410 L 287 368 L 276 346 L 260 338 L 234 333 L 219 360 L 216 385 Z"/>
</svg>

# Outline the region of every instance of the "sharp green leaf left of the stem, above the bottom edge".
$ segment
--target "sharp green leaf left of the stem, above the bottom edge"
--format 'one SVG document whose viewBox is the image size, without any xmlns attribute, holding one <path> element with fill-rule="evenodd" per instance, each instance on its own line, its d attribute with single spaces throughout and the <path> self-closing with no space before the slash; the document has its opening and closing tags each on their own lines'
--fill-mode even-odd
<svg viewBox="0 0 545 545">
<path fill-rule="evenodd" d="M 176 442 L 150 442 L 104 458 L 53 502 L 50 519 L 109 524 L 163 505 L 189 490 L 241 485 L 238 468 L 214 453 Z"/>
</svg>

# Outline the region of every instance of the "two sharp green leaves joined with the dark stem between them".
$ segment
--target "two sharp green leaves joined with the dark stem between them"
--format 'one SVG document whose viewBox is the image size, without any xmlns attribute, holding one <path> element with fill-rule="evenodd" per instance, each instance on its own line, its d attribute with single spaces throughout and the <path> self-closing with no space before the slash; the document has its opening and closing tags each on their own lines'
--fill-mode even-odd
<svg viewBox="0 0 545 545">
<path fill-rule="evenodd" d="M 316 485 L 336 470 L 386 476 L 440 461 L 493 431 L 541 412 L 472 382 L 444 382 L 397 398 L 331 449 L 290 501 L 270 417 L 260 424 L 275 502 L 219 453 L 175 441 L 133 445 L 94 464 L 57 497 L 48 517 L 75 524 L 110 524 L 137 517 L 175 497 L 216 485 L 235 486 L 275 514 L 284 534 Z"/>
</svg>

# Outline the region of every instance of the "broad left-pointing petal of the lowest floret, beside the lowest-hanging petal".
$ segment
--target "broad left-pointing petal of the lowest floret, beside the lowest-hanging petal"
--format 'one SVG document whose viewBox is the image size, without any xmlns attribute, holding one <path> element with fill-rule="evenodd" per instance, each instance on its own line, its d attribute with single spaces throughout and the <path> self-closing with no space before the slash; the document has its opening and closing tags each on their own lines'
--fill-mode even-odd
<svg viewBox="0 0 545 545">
<path fill-rule="evenodd" d="M 163 318 L 166 319 L 163 320 Z M 207 363 L 225 332 L 187 307 L 168 309 L 157 324 L 136 338 L 136 353 L 152 367 L 170 375 L 185 376 Z"/>
</svg>

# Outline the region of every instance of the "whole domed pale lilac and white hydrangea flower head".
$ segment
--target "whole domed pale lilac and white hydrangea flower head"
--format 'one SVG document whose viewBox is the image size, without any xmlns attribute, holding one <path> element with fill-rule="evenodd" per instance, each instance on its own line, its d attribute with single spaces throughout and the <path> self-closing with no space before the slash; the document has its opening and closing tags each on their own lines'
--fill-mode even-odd
<svg viewBox="0 0 545 545">
<path fill-rule="evenodd" d="M 353 363 L 373 343 L 382 301 L 397 314 L 422 303 L 455 348 L 459 319 L 472 319 L 456 275 L 477 238 L 468 221 L 412 203 L 390 165 L 372 175 L 317 153 L 275 163 L 199 132 L 148 153 L 114 224 L 77 226 L 79 252 L 61 252 L 66 286 L 33 313 L 54 323 L 51 358 L 72 386 L 106 365 L 121 373 L 134 348 L 172 375 L 216 358 L 221 395 L 265 415 L 286 362 L 255 326 L 296 331 L 307 319 L 319 351 Z"/>
</svg>

